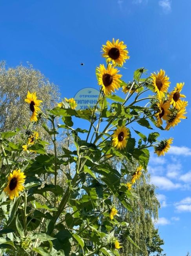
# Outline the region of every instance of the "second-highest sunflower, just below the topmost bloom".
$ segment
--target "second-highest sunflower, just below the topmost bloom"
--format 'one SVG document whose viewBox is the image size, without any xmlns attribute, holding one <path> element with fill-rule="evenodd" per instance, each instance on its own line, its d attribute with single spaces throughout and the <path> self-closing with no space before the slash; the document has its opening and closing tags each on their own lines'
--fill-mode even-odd
<svg viewBox="0 0 191 256">
<path fill-rule="evenodd" d="M 96 70 L 96 76 L 98 77 L 98 84 L 102 85 L 102 90 L 104 91 L 105 95 L 110 94 L 112 91 L 115 92 L 115 89 L 118 90 L 120 87 L 120 78 L 122 75 L 117 74 L 119 70 L 115 69 L 108 64 L 107 69 L 104 65 L 100 64 L 100 67 Z"/>
</svg>

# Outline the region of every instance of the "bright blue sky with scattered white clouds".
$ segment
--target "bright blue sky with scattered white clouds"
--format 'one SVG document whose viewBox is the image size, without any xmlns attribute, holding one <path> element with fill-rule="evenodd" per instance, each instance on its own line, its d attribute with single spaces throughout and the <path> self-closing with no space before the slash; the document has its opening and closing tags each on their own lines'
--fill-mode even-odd
<svg viewBox="0 0 191 256">
<path fill-rule="evenodd" d="M 10 67 L 29 61 L 69 98 L 81 88 L 98 88 L 101 46 L 119 38 L 131 56 L 124 80 L 139 67 L 162 68 L 171 89 L 185 82 L 190 102 L 190 10 L 190 0 L 1 0 L 0 59 Z M 173 147 L 164 158 L 151 154 L 148 168 L 162 203 L 157 226 L 167 256 L 191 252 L 190 106 L 187 112 L 187 120 L 162 132 L 161 137 L 174 137 Z"/>
</svg>

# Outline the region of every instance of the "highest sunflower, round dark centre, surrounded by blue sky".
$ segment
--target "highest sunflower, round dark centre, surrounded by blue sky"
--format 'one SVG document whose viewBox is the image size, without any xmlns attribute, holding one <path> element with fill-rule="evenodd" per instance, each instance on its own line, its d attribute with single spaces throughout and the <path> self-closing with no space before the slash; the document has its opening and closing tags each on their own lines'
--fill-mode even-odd
<svg viewBox="0 0 191 256">
<path fill-rule="evenodd" d="M 113 41 L 107 41 L 106 45 L 103 45 L 103 54 L 102 56 L 106 58 L 107 63 L 112 61 L 114 66 L 121 67 L 126 59 L 129 59 L 128 51 L 126 50 L 127 46 L 124 45 L 124 42 L 119 42 L 119 39 L 116 41 L 113 38 Z"/>
</svg>

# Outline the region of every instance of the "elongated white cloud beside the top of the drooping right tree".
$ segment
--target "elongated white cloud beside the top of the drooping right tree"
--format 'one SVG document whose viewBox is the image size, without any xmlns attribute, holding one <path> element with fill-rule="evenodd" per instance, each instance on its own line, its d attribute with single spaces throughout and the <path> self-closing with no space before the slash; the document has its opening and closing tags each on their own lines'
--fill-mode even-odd
<svg viewBox="0 0 191 256">
<path fill-rule="evenodd" d="M 175 184 L 164 176 L 151 176 L 151 183 L 157 186 L 159 189 L 171 190 L 181 187 L 180 184 Z"/>
</svg>

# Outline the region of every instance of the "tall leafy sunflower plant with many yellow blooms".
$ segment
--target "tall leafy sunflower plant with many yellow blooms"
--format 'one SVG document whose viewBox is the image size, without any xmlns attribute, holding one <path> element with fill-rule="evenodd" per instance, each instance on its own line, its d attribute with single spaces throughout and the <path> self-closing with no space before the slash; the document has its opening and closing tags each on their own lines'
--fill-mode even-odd
<svg viewBox="0 0 191 256">
<path fill-rule="evenodd" d="M 120 69 L 129 52 L 119 40 L 107 41 L 102 56 L 106 63 L 96 68 L 100 94 L 93 108 L 76 110 L 75 99 L 65 98 L 44 113 L 38 92 L 28 91 L 31 118 L 25 134 L 19 129 L 0 134 L 1 255 L 119 256 L 124 239 L 132 241 L 129 223 L 119 221 L 112 199 L 133 211 L 129 201 L 147 170 L 149 148 L 160 157 L 173 142 L 158 141 L 156 130 L 167 131 L 186 118 L 184 83 L 169 91 L 164 70 L 146 77 L 144 68 L 124 82 L 121 71 L 126 69 Z M 89 130 L 76 127 L 77 119 L 89 123 Z M 35 131 L 37 123 L 50 136 L 50 145 Z M 145 135 L 137 127 L 153 131 Z M 62 129 L 67 143 L 60 154 Z M 119 161 L 120 170 L 111 158 Z M 131 182 L 122 183 L 124 176 Z"/>
</svg>

